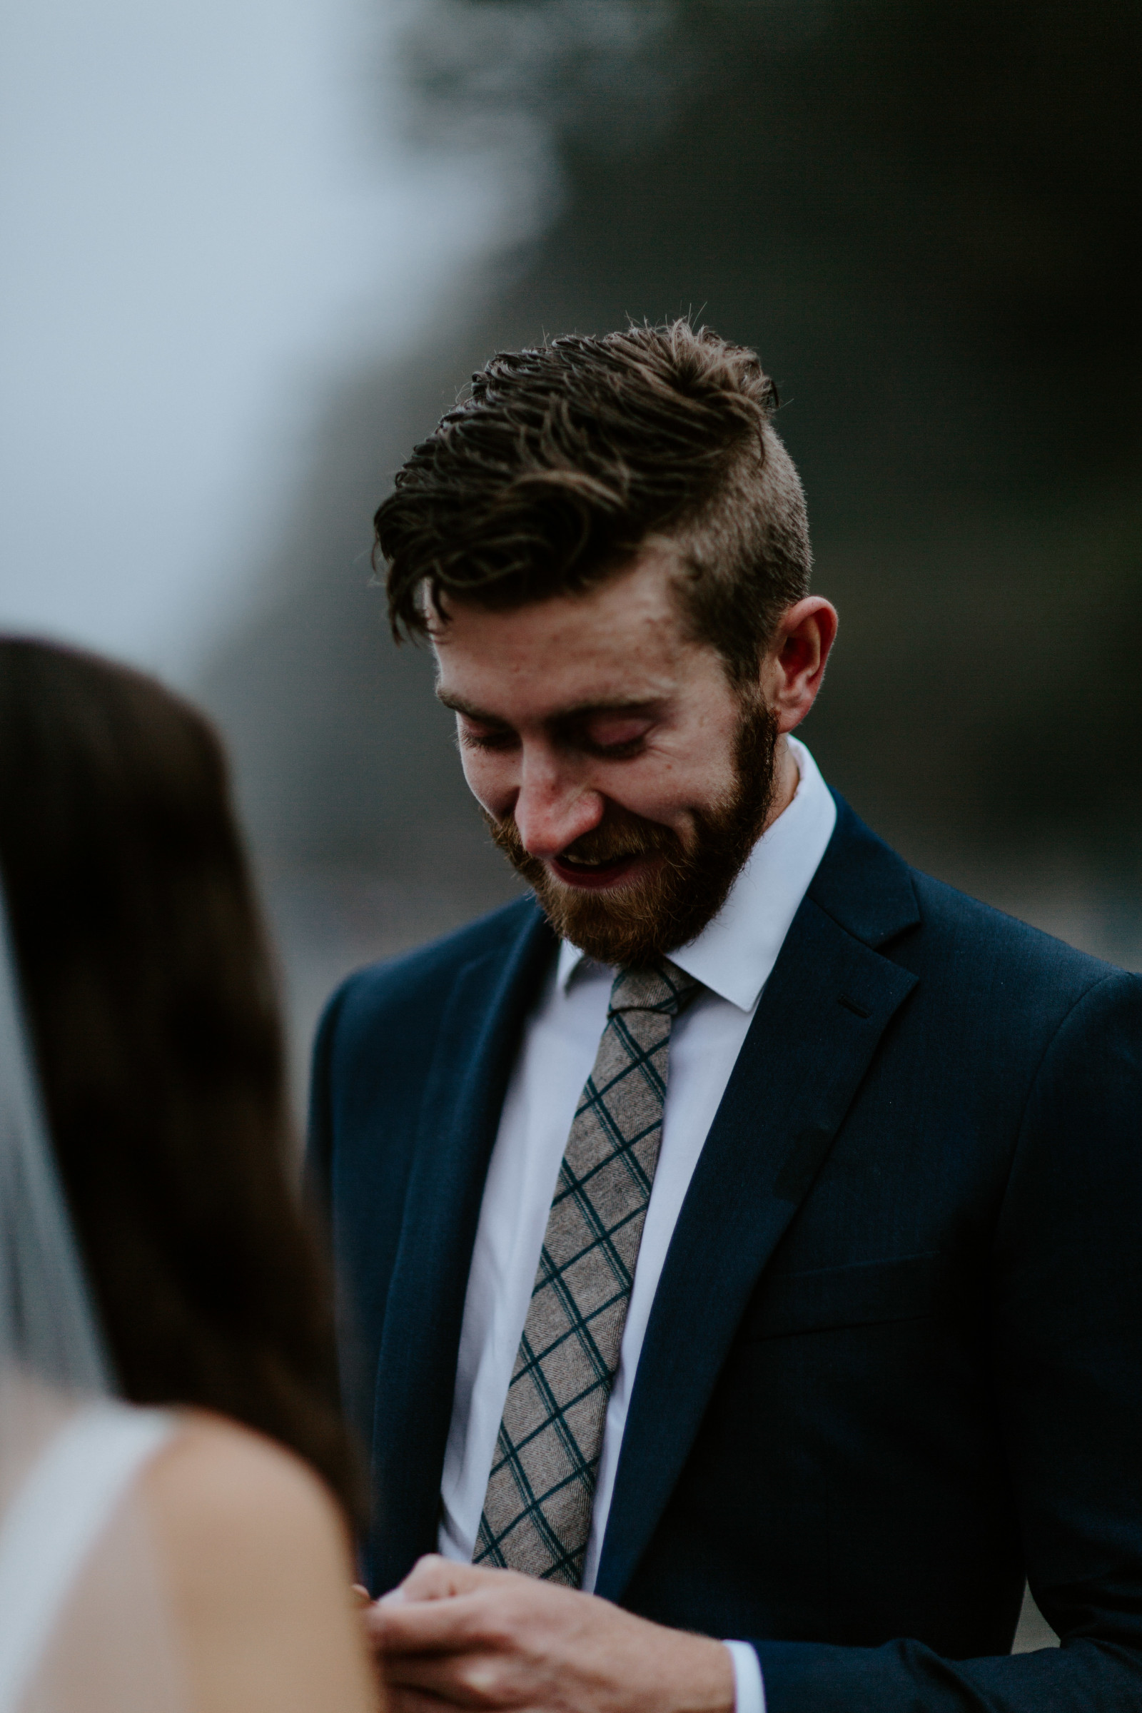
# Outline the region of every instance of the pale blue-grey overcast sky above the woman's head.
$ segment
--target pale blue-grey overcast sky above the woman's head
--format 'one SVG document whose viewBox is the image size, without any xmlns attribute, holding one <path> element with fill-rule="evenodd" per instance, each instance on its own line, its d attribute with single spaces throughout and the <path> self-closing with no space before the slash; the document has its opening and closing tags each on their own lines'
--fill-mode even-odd
<svg viewBox="0 0 1142 1713">
<path fill-rule="evenodd" d="M 406 0 L 0 0 L 0 625 L 187 680 L 324 389 L 507 218 L 413 156 Z"/>
</svg>

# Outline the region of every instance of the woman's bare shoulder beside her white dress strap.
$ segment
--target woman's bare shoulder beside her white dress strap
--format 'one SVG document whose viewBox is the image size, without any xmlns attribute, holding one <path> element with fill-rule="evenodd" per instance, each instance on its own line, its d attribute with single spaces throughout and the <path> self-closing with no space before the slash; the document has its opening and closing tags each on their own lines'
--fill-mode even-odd
<svg viewBox="0 0 1142 1713">
<path fill-rule="evenodd" d="M 300 1458 L 236 1424 L 187 1415 L 142 1499 L 197 1708 L 375 1706 L 348 1530 Z"/>
</svg>

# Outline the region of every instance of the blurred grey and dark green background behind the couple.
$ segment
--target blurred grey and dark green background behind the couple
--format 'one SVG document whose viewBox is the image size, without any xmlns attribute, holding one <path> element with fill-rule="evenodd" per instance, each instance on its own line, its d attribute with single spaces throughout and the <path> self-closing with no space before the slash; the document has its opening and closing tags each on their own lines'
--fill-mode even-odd
<svg viewBox="0 0 1142 1713">
<path fill-rule="evenodd" d="M 805 737 L 909 858 L 1142 964 L 1142 12 L 7 0 L 0 624 L 223 726 L 298 1088 L 512 894 L 370 517 L 493 349 L 755 344 L 842 615 Z"/>
</svg>

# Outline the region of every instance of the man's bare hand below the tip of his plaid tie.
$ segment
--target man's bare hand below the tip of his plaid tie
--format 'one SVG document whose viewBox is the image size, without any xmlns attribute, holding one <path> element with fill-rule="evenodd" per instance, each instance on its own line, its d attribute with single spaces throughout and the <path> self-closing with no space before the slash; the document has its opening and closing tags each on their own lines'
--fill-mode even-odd
<svg viewBox="0 0 1142 1713">
<path fill-rule="evenodd" d="M 421 1559 L 365 1622 L 389 1713 L 733 1713 L 721 1641 L 514 1571 Z"/>
</svg>

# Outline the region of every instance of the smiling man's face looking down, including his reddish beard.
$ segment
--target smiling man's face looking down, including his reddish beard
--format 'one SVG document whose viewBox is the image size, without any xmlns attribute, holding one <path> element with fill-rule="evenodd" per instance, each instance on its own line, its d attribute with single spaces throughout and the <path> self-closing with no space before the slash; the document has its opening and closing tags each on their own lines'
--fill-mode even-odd
<svg viewBox="0 0 1142 1713">
<path fill-rule="evenodd" d="M 497 845 L 603 963 L 692 940 L 770 802 L 774 721 L 687 637 L 671 574 L 647 550 L 587 594 L 449 605 L 433 634 L 437 694 Z"/>
</svg>

